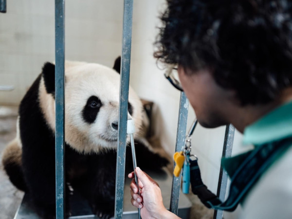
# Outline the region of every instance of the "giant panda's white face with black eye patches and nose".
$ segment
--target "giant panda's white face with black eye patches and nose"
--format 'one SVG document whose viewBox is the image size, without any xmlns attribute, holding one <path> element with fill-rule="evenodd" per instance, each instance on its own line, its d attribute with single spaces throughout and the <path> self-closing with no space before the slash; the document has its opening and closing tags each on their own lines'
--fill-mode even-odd
<svg viewBox="0 0 292 219">
<path fill-rule="evenodd" d="M 66 143 L 81 153 L 116 148 L 120 75 L 108 67 L 92 63 L 66 69 Z M 128 116 L 135 121 L 137 133 L 142 123 L 142 103 L 131 88 Z"/>
</svg>

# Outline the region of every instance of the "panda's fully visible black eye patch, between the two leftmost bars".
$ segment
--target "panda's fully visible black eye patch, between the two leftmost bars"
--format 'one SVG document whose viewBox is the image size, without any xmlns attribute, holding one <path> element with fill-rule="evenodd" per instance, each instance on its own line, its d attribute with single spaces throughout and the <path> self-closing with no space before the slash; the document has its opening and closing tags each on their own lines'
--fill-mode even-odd
<svg viewBox="0 0 292 219">
<path fill-rule="evenodd" d="M 97 96 L 91 96 L 88 98 L 86 105 L 82 110 L 82 117 L 84 121 L 89 124 L 93 123 L 101 107 L 102 103 Z"/>
</svg>

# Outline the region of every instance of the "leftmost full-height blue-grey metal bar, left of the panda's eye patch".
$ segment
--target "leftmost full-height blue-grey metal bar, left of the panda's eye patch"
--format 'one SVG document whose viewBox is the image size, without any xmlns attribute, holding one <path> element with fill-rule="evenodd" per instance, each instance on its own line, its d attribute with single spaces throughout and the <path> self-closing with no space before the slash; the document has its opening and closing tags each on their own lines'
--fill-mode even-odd
<svg viewBox="0 0 292 219">
<path fill-rule="evenodd" d="M 65 0 L 55 0 L 55 175 L 56 219 L 64 219 Z"/>
</svg>

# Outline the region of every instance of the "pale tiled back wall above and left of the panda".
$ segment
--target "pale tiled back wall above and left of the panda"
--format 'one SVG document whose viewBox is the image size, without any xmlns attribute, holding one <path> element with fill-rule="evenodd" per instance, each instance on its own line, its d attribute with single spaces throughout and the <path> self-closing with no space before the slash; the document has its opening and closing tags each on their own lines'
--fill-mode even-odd
<svg viewBox="0 0 292 219">
<path fill-rule="evenodd" d="M 123 1 L 66 1 L 66 59 L 113 65 L 121 53 Z M 55 59 L 55 5 L 9 0 L 0 13 L 0 103 L 18 105 L 46 61 Z"/>
</svg>

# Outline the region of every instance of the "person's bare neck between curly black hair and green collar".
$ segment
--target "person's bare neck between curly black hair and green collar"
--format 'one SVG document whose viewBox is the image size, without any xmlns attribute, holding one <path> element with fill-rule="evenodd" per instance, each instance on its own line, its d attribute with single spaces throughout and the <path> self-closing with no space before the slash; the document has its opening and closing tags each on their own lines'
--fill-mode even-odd
<svg viewBox="0 0 292 219">
<path fill-rule="evenodd" d="M 235 107 L 233 111 L 231 124 L 241 133 L 244 129 L 256 122 L 259 118 L 292 100 L 292 88 L 285 89 L 276 100 L 269 104 L 263 105 L 247 105 L 244 107 Z M 238 116 L 240 115 L 240 116 Z"/>
</svg>

